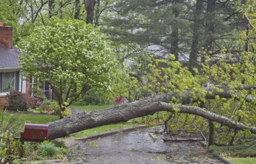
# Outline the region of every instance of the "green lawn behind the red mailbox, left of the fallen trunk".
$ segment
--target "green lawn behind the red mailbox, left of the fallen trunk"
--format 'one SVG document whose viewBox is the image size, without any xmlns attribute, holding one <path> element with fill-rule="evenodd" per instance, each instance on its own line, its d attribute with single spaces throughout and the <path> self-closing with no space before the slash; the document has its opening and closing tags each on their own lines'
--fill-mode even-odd
<svg viewBox="0 0 256 164">
<path fill-rule="evenodd" d="M 3 124 L 2 128 L 5 128 L 13 120 L 8 129 L 13 132 L 14 136 L 19 136 L 19 132 L 24 131 L 24 122 L 45 124 L 58 119 L 58 116 L 29 115 L 16 112 L 7 112 L 3 115 L 2 110 L 0 110 L 0 121 L 3 120 L 1 121 L 1 124 Z"/>
</svg>

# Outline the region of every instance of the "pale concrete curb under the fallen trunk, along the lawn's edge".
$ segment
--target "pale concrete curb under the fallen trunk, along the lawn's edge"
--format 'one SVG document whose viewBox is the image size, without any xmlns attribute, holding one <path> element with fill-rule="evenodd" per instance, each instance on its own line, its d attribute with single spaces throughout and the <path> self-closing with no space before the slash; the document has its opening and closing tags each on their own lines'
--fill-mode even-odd
<svg viewBox="0 0 256 164">
<path fill-rule="evenodd" d="M 104 137 L 104 136 L 114 135 L 114 134 L 120 133 L 120 132 L 129 132 L 129 131 L 137 130 L 139 128 L 146 128 L 146 126 L 145 125 L 140 125 L 140 126 L 122 128 L 122 129 L 119 129 L 119 130 L 99 133 L 99 134 L 91 135 L 91 136 L 87 136 L 87 137 L 70 138 L 70 139 L 66 139 L 66 140 L 63 140 L 63 141 L 65 142 L 65 145 L 67 147 L 71 147 L 71 146 L 74 146 L 74 145 L 76 145 L 76 143 L 81 142 L 81 141 L 93 140 L 93 139 Z"/>
</svg>

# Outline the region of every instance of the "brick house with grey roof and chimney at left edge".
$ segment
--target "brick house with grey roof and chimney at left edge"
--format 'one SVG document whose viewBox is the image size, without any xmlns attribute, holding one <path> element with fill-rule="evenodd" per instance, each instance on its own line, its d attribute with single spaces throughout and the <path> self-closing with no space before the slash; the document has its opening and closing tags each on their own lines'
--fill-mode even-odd
<svg viewBox="0 0 256 164">
<path fill-rule="evenodd" d="M 0 107 L 7 106 L 9 90 L 29 96 L 30 82 L 22 77 L 19 52 L 12 42 L 13 28 L 0 20 Z"/>
</svg>

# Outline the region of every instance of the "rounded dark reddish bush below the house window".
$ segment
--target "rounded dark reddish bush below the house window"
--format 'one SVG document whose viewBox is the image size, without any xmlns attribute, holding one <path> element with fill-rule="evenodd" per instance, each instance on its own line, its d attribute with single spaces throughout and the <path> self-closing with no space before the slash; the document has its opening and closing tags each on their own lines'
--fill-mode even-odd
<svg viewBox="0 0 256 164">
<path fill-rule="evenodd" d="M 8 97 L 8 110 L 12 111 L 27 111 L 29 108 L 26 97 L 18 91 L 10 91 Z"/>
</svg>

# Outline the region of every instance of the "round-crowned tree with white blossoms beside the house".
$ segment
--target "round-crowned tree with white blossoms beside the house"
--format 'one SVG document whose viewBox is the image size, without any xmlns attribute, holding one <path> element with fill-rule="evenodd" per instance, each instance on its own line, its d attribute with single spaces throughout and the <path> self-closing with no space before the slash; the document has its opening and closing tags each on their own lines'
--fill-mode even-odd
<svg viewBox="0 0 256 164">
<path fill-rule="evenodd" d="M 99 28 L 77 20 L 46 24 L 18 45 L 24 75 L 51 85 L 60 107 L 91 87 L 107 85 L 115 62 Z"/>
</svg>

